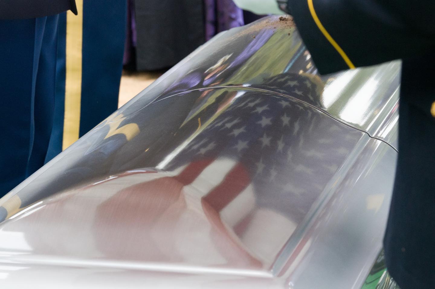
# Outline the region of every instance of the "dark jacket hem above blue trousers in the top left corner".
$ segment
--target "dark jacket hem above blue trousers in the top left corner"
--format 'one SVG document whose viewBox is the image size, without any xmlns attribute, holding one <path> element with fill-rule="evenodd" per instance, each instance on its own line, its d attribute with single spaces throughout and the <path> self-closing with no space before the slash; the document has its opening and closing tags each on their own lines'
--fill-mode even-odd
<svg viewBox="0 0 435 289">
<path fill-rule="evenodd" d="M 0 0 L 0 19 L 27 19 L 71 10 L 77 15 L 75 0 Z"/>
</svg>

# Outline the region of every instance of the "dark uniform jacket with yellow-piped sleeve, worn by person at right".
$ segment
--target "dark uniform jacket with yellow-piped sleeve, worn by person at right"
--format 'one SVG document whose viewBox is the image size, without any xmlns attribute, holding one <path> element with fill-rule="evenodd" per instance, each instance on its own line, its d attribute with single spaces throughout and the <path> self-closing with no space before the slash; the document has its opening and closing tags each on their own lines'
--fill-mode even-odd
<svg viewBox="0 0 435 289">
<path fill-rule="evenodd" d="M 402 289 L 435 288 L 435 1 L 288 0 L 321 74 L 402 59 L 384 246 Z"/>
</svg>

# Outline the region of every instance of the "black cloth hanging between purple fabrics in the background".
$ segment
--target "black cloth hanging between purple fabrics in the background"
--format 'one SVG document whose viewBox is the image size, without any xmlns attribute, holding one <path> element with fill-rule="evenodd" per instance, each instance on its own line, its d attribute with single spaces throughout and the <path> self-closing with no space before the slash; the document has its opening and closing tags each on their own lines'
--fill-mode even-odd
<svg viewBox="0 0 435 289">
<path fill-rule="evenodd" d="M 205 41 L 203 0 L 136 0 L 137 70 L 171 67 Z"/>
</svg>

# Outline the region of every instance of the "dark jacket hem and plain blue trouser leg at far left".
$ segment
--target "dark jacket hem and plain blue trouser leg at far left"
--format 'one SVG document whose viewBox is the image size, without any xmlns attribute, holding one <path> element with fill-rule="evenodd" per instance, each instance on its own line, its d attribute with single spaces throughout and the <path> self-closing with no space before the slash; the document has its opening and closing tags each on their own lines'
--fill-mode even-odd
<svg viewBox="0 0 435 289">
<path fill-rule="evenodd" d="M 40 168 L 53 126 L 58 13 L 74 0 L 0 1 L 0 197 Z"/>
</svg>

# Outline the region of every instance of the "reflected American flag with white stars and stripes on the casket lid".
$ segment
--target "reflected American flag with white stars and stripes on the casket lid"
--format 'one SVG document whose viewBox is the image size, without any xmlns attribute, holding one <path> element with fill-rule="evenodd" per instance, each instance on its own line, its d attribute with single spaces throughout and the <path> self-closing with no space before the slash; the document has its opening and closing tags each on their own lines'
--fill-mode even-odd
<svg viewBox="0 0 435 289">
<path fill-rule="evenodd" d="M 274 77 L 258 88 L 278 86 L 288 95 L 308 97 L 308 103 L 315 99 L 314 85 L 297 74 Z M 197 136 L 164 170 L 179 171 L 173 178 L 183 185 L 188 208 L 201 208 L 235 244 L 269 263 L 361 132 L 291 97 L 222 91 L 190 92 L 202 109 L 177 135 L 180 141 Z M 203 97 L 192 96 L 196 93 Z M 204 108 L 211 95 L 215 101 Z"/>
</svg>

